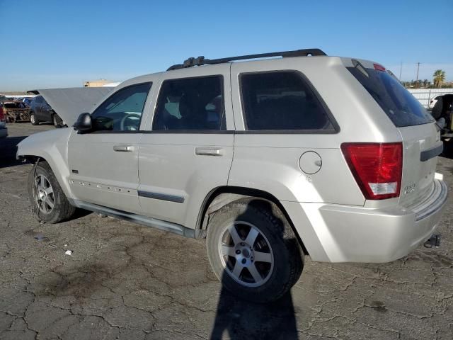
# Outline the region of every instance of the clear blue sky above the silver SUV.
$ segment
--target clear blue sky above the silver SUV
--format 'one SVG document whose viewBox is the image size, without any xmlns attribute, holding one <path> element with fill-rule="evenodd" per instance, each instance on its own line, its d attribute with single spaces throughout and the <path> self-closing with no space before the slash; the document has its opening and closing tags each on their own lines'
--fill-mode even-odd
<svg viewBox="0 0 453 340">
<path fill-rule="evenodd" d="M 453 80 L 453 1 L 0 0 L 0 91 L 159 72 L 190 56 L 320 47 Z"/>
</svg>

